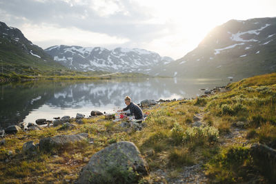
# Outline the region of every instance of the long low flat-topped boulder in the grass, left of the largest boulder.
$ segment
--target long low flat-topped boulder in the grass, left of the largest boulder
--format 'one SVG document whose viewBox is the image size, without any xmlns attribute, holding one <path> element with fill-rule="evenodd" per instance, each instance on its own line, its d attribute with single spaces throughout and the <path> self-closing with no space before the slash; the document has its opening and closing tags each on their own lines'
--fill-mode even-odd
<svg viewBox="0 0 276 184">
<path fill-rule="evenodd" d="M 39 141 L 39 150 L 42 150 L 45 152 L 55 152 L 60 150 L 66 150 L 72 144 L 79 143 L 87 139 L 88 139 L 87 133 L 47 137 Z"/>
</svg>

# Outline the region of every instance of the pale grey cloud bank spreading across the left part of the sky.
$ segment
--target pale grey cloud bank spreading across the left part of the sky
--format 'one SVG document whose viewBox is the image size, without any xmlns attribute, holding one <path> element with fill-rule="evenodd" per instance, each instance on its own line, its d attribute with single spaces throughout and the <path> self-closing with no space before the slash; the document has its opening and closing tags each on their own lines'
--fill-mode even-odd
<svg viewBox="0 0 276 184">
<path fill-rule="evenodd" d="M 102 3 L 104 2 L 104 3 Z M 57 28 L 79 28 L 110 36 L 141 41 L 161 36 L 163 24 L 146 23 L 151 19 L 143 7 L 130 1 L 1 1 L 1 17 L 10 16 L 17 26 L 50 23 Z M 143 10 L 141 10 L 143 9 Z M 26 21 L 18 21 L 18 17 Z"/>
</svg>

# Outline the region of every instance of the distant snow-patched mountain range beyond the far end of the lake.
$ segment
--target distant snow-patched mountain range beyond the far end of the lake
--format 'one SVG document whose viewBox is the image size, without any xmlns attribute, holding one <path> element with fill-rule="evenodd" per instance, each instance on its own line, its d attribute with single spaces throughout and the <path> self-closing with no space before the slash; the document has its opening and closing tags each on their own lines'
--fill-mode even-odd
<svg viewBox="0 0 276 184">
<path fill-rule="evenodd" d="M 52 46 L 45 50 L 55 61 L 72 70 L 106 72 L 141 72 L 152 74 L 152 68 L 167 65 L 173 59 L 160 57 L 156 52 L 134 48 L 83 48 L 80 46 Z"/>
</svg>

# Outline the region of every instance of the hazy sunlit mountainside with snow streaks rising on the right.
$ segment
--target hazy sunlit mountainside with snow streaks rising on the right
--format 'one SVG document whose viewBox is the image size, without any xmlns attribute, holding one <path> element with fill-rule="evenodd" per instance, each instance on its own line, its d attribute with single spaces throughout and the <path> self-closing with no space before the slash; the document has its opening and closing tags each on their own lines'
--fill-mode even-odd
<svg viewBox="0 0 276 184">
<path fill-rule="evenodd" d="M 244 78 L 276 70 L 276 17 L 230 20 L 161 74 L 186 78 Z M 158 71 L 156 71 L 158 72 Z"/>
</svg>

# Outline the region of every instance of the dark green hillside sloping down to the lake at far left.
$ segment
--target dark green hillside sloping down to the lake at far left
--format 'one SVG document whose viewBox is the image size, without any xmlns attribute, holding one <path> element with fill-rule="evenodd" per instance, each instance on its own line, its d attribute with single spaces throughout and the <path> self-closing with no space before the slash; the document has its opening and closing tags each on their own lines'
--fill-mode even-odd
<svg viewBox="0 0 276 184">
<path fill-rule="evenodd" d="M 0 61 L 3 72 L 34 74 L 34 70 L 66 69 L 52 60 L 39 46 L 32 44 L 17 29 L 0 22 Z"/>
</svg>

